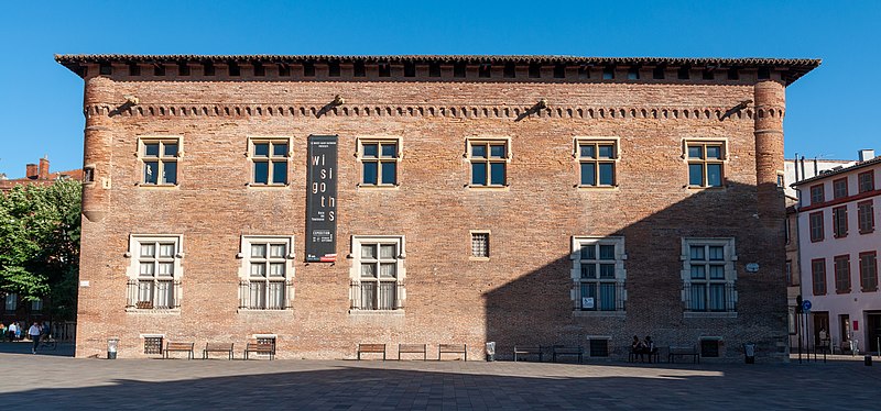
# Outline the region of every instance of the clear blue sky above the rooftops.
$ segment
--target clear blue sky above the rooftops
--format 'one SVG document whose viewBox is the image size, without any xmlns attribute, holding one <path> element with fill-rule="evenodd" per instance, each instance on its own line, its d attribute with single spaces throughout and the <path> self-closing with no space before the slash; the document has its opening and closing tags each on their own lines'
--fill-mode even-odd
<svg viewBox="0 0 881 411">
<path fill-rule="evenodd" d="M 83 81 L 54 54 L 822 58 L 786 156 L 881 151 L 881 1 L 40 1 L 0 5 L 0 173 L 81 167 Z M 13 5 L 14 4 L 14 5 Z"/>
</svg>

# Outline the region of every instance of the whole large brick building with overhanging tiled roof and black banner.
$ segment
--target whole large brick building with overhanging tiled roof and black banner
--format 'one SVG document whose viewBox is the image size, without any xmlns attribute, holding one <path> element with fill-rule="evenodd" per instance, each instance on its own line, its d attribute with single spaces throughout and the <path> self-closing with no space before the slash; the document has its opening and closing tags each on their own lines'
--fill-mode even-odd
<svg viewBox="0 0 881 411">
<path fill-rule="evenodd" d="M 77 356 L 785 358 L 784 91 L 819 60 L 56 59 L 86 81 Z"/>
</svg>

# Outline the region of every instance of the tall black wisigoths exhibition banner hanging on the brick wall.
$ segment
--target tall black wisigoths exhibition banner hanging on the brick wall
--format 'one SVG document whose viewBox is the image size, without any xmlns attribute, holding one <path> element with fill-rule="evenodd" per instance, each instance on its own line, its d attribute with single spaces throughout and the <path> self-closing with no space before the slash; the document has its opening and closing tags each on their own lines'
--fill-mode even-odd
<svg viewBox="0 0 881 411">
<path fill-rule="evenodd" d="M 306 262 L 337 259 L 337 136 L 309 135 Z"/>
</svg>

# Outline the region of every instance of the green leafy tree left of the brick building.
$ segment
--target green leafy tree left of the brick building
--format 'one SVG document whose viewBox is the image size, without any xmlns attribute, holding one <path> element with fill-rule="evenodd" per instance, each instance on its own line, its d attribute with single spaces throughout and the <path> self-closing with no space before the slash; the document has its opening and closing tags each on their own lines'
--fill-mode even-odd
<svg viewBox="0 0 881 411">
<path fill-rule="evenodd" d="M 80 184 L 18 186 L 0 195 L 0 295 L 50 297 L 69 318 L 79 273 Z"/>
</svg>

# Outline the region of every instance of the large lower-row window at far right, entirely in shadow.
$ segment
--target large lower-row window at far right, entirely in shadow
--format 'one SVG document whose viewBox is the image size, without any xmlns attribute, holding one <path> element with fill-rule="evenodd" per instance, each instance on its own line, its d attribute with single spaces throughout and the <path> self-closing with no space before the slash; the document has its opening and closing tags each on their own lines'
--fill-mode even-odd
<svg viewBox="0 0 881 411">
<path fill-rule="evenodd" d="M 736 312 L 737 270 L 733 238 L 683 238 L 685 309 Z"/>
</svg>

